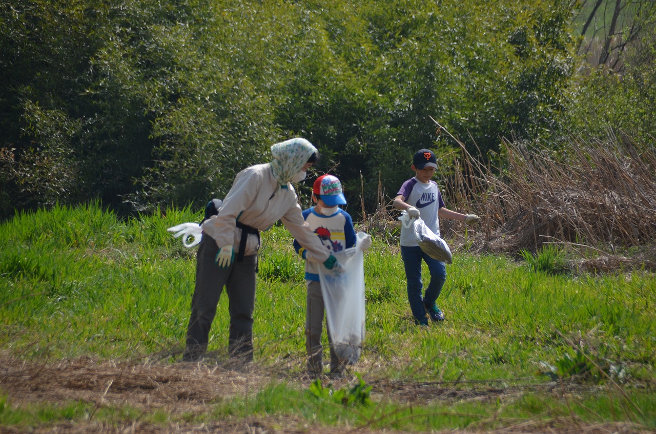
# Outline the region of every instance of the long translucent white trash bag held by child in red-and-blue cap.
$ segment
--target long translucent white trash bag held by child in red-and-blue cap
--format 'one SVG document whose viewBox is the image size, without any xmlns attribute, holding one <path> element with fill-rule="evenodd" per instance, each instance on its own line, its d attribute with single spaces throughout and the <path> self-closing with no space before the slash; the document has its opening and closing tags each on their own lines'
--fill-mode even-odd
<svg viewBox="0 0 656 434">
<path fill-rule="evenodd" d="M 319 266 L 321 294 L 326 321 L 337 357 L 346 365 L 356 363 L 365 338 L 365 272 L 362 239 L 367 234 L 356 234 L 356 247 L 335 252 L 344 267 L 337 273 Z"/>
</svg>

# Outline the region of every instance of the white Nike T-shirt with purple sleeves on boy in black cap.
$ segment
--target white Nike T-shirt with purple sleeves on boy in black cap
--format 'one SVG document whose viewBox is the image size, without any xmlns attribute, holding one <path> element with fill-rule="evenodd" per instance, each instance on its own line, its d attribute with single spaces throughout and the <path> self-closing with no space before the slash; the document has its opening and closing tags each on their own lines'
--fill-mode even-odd
<svg viewBox="0 0 656 434">
<path fill-rule="evenodd" d="M 404 202 L 419 210 L 421 220 L 424 220 L 426 226 L 436 235 L 440 235 L 440 218 L 438 210 L 444 206 L 444 201 L 440 193 L 440 188 L 435 181 L 428 184 L 419 182 L 417 178 L 411 178 L 403 183 L 401 189 L 396 195 L 405 197 Z M 401 226 L 401 246 L 417 246 L 417 240 L 413 233 L 413 228 Z"/>
</svg>

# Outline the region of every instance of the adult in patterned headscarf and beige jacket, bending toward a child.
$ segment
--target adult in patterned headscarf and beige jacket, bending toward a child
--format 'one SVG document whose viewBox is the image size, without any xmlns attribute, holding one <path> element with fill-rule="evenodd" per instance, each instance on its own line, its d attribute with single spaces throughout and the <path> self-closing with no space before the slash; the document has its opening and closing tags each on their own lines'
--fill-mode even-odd
<svg viewBox="0 0 656 434">
<path fill-rule="evenodd" d="M 293 138 L 271 147 L 273 161 L 239 172 L 218 215 L 203 222 L 205 235 L 196 258 L 196 282 L 183 361 L 197 361 L 207 350 L 209 330 L 223 287 L 230 300 L 229 357 L 253 360 L 253 307 L 260 231 L 281 220 L 308 250 L 308 260 L 327 268 L 335 256 L 321 244 L 302 216 L 292 182 L 305 179 L 318 151 L 308 140 Z"/>
</svg>

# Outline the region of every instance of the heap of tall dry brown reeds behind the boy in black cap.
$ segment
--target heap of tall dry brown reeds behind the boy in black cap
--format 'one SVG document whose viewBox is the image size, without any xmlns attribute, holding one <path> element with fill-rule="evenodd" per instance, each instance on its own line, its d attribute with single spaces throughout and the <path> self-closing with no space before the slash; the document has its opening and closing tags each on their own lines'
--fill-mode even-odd
<svg viewBox="0 0 656 434">
<path fill-rule="evenodd" d="M 482 217 L 469 239 L 476 250 L 535 252 L 556 243 L 592 253 L 594 261 L 601 256 L 601 262 L 655 269 L 653 147 L 609 133 L 603 142 L 572 138 L 567 155 L 554 157 L 506 141 L 505 170 L 484 166 L 464 146 L 462 151 L 446 189 L 455 207 Z M 619 256 L 635 247 L 641 247 L 639 256 Z"/>
</svg>

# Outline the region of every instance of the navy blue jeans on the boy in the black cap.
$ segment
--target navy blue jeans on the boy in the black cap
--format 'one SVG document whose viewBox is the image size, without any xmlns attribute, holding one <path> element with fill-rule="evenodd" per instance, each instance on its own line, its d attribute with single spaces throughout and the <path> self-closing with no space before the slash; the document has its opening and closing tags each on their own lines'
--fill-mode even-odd
<svg viewBox="0 0 656 434">
<path fill-rule="evenodd" d="M 425 323 L 426 309 L 424 309 L 424 303 L 430 306 L 440 296 L 442 286 L 447 280 L 447 268 L 443 262 L 425 254 L 419 246 L 401 246 L 401 258 L 403 259 L 403 266 L 405 266 L 410 309 L 417 321 Z M 426 262 L 428 271 L 430 271 L 430 283 L 426 288 L 426 294 L 422 294 L 424 287 L 421 281 L 422 260 Z"/>
</svg>

